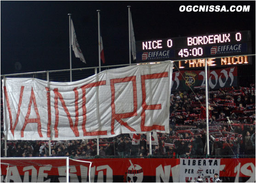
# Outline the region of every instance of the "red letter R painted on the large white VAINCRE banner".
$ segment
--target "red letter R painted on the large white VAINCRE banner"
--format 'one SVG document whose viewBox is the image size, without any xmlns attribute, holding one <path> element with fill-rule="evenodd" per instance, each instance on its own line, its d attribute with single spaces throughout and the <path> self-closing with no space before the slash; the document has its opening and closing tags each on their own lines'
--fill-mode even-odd
<svg viewBox="0 0 256 183">
<path fill-rule="evenodd" d="M 115 83 L 129 82 L 132 81 L 132 90 L 133 90 L 133 112 L 131 113 L 115 113 Z M 131 118 L 132 116 L 137 116 L 137 86 L 136 86 L 136 76 L 117 78 L 110 80 L 111 86 L 111 109 L 112 109 L 112 117 L 111 117 L 111 134 L 114 135 L 114 121 L 116 120 L 119 124 L 124 125 L 130 131 L 136 131 L 131 128 L 127 122 L 124 122 L 122 118 Z"/>
</svg>

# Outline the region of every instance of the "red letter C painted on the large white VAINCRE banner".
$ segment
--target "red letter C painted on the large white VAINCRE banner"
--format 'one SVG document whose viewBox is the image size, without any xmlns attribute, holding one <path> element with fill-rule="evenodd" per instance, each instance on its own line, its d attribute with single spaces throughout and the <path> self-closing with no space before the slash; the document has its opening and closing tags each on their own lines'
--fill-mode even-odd
<svg viewBox="0 0 256 183">
<path fill-rule="evenodd" d="M 82 123 L 82 129 L 84 132 L 84 136 L 97 136 L 97 135 L 107 135 L 107 131 L 94 131 L 94 132 L 87 132 L 85 129 L 85 124 L 86 124 L 86 88 L 92 88 L 92 87 L 96 87 L 96 86 L 101 86 L 101 85 L 106 85 L 106 81 L 98 81 L 98 82 L 94 82 L 94 83 L 90 83 L 84 86 L 81 86 L 81 89 L 83 91 L 83 95 L 82 95 L 82 108 L 83 108 L 83 123 Z"/>
</svg>

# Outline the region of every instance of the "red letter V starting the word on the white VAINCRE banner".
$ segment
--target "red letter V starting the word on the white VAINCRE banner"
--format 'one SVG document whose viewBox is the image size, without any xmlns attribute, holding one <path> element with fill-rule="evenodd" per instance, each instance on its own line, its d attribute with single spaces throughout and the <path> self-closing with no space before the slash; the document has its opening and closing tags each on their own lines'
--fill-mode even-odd
<svg viewBox="0 0 256 183">
<path fill-rule="evenodd" d="M 12 116 L 11 116 L 10 101 L 9 101 L 9 98 L 8 98 L 8 95 L 7 95 L 6 86 L 4 86 L 4 92 L 5 92 L 5 97 L 6 97 L 6 104 L 7 104 L 7 109 L 8 109 L 9 118 L 10 118 L 10 130 L 11 130 L 11 133 L 12 133 L 13 136 L 14 136 L 14 129 L 17 126 L 19 115 L 20 115 L 20 107 L 21 107 L 21 103 L 22 103 L 23 90 L 24 90 L 24 86 L 21 86 L 20 98 L 19 98 L 19 103 L 18 103 L 18 111 L 17 111 L 17 114 L 16 114 L 16 120 L 15 120 L 14 126 L 12 126 Z"/>
</svg>

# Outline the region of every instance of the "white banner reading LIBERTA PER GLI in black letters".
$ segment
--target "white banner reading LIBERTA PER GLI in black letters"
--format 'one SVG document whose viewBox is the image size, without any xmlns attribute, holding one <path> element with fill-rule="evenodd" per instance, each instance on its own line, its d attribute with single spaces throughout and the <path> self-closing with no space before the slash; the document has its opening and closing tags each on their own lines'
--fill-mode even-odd
<svg viewBox="0 0 256 183">
<path fill-rule="evenodd" d="M 194 182 L 196 178 L 212 183 L 214 174 L 220 174 L 221 159 L 180 159 L 180 183 Z M 203 180 L 202 180 L 203 179 Z"/>
</svg>

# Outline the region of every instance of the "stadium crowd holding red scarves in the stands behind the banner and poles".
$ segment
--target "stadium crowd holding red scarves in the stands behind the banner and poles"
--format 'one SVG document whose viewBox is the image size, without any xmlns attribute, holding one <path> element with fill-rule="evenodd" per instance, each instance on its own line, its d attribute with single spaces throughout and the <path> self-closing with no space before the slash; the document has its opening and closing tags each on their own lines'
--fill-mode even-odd
<svg viewBox="0 0 256 183">
<path fill-rule="evenodd" d="M 209 147 L 212 156 L 255 156 L 255 85 L 209 92 Z M 2 116 L 2 114 L 1 114 Z M 205 90 L 173 92 L 170 133 L 157 133 L 152 156 L 193 157 L 206 154 Z M 154 137 L 154 135 L 152 136 Z M 149 153 L 146 134 L 99 139 L 99 156 L 141 156 Z M 50 148 L 49 148 L 50 146 Z M 50 150 L 49 150 L 50 149 Z M 7 141 L 7 157 L 90 157 L 97 140 Z M 1 157 L 5 155 L 1 130 Z"/>
</svg>

